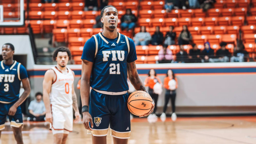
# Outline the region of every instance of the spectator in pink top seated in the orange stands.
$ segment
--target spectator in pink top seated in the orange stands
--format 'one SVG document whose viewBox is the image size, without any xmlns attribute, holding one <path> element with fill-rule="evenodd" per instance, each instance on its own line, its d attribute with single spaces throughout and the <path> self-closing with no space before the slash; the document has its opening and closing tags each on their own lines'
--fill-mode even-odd
<svg viewBox="0 0 256 144">
<path fill-rule="evenodd" d="M 158 63 L 171 63 L 173 60 L 172 51 L 167 49 L 167 45 L 158 52 Z"/>
</svg>

